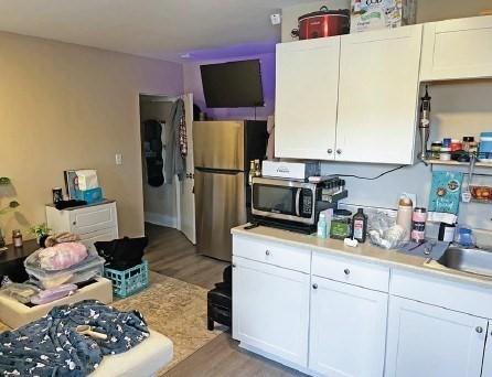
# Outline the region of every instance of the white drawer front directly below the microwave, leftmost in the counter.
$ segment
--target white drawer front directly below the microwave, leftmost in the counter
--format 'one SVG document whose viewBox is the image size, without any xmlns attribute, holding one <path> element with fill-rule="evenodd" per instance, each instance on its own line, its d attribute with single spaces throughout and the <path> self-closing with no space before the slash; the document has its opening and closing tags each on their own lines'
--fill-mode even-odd
<svg viewBox="0 0 492 377">
<path fill-rule="evenodd" d="M 233 236 L 233 255 L 295 271 L 306 273 L 310 271 L 311 252 L 309 249 Z"/>
</svg>

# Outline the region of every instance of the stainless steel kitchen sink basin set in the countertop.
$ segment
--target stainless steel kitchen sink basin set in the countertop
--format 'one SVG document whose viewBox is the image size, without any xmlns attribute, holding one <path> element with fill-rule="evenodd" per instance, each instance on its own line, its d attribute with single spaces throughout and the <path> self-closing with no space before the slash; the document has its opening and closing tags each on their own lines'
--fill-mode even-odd
<svg viewBox="0 0 492 377">
<path fill-rule="evenodd" d="M 436 261 L 454 270 L 492 277 L 492 250 L 451 246 Z"/>
</svg>

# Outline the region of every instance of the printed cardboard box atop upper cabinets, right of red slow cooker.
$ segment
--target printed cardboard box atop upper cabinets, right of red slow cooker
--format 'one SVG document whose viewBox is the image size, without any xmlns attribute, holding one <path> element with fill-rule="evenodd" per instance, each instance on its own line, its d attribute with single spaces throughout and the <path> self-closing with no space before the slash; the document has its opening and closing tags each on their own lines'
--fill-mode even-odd
<svg viewBox="0 0 492 377">
<path fill-rule="evenodd" d="M 416 18 L 417 0 L 352 0 L 350 32 L 411 25 Z"/>
</svg>

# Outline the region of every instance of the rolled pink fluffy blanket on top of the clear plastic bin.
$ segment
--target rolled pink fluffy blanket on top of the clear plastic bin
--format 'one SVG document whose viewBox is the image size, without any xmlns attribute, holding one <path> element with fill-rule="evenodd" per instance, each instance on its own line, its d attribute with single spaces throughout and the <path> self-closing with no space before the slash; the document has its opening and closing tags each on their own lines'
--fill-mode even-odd
<svg viewBox="0 0 492 377">
<path fill-rule="evenodd" d="M 40 252 L 40 266 L 47 271 L 60 271 L 78 263 L 87 255 L 87 248 L 81 243 L 57 244 Z"/>
</svg>

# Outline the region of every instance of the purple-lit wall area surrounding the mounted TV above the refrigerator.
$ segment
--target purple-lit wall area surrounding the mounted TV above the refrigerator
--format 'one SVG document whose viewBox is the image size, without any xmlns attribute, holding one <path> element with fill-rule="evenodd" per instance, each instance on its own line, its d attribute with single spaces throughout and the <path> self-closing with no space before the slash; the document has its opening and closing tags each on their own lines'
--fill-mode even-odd
<svg viewBox="0 0 492 377">
<path fill-rule="evenodd" d="M 258 54 L 247 56 L 227 57 L 222 60 L 211 60 L 202 62 L 191 62 L 183 65 L 184 93 L 193 93 L 194 103 L 200 106 L 214 119 L 254 119 L 253 108 L 226 108 L 208 109 L 205 105 L 203 94 L 202 77 L 200 74 L 201 64 L 213 64 L 224 62 L 235 62 L 243 60 L 259 58 L 261 62 L 261 80 L 265 97 L 265 107 L 256 109 L 257 119 L 266 119 L 275 111 L 275 54 Z"/>
</svg>

